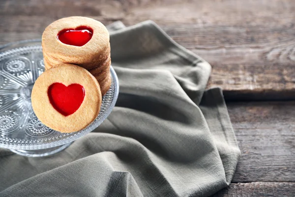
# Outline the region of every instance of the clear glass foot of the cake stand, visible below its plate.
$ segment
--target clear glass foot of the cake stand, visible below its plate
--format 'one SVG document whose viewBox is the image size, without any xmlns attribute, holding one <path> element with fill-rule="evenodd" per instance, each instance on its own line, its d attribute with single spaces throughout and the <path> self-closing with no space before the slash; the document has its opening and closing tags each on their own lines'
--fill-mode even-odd
<svg viewBox="0 0 295 197">
<path fill-rule="evenodd" d="M 11 150 L 12 152 L 23 155 L 26 157 L 45 157 L 49 155 L 53 155 L 55 153 L 58 153 L 64 149 L 66 149 L 69 145 L 71 145 L 73 142 L 53 147 L 53 148 L 46 148 L 46 149 L 40 149 L 40 150 Z"/>
</svg>

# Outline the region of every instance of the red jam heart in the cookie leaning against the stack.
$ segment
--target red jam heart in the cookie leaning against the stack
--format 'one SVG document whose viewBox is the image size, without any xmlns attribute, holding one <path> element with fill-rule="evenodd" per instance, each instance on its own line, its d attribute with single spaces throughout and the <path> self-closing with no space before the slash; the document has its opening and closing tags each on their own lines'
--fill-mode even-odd
<svg viewBox="0 0 295 197">
<path fill-rule="evenodd" d="M 81 106 L 85 97 L 85 89 L 76 83 L 69 86 L 53 83 L 49 86 L 47 94 L 52 106 L 62 115 L 68 116 Z"/>
</svg>

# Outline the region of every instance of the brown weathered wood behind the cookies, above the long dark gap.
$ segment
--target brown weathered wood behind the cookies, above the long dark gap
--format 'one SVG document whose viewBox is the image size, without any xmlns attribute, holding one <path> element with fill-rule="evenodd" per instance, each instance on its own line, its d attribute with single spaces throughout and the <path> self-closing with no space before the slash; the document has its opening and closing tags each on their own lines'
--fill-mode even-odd
<svg viewBox="0 0 295 197">
<path fill-rule="evenodd" d="M 294 0 L 1 0 L 0 44 L 39 38 L 61 17 L 154 20 L 213 67 L 230 99 L 295 99 Z"/>
</svg>

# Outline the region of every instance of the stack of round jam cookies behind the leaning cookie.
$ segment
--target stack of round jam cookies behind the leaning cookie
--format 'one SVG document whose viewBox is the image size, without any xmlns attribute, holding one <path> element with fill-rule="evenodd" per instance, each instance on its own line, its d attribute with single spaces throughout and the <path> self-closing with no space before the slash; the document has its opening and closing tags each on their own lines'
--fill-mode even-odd
<svg viewBox="0 0 295 197">
<path fill-rule="evenodd" d="M 98 81 L 102 95 L 111 86 L 110 35 L 106 27 L 87 17 L 68 17 L 50 24 L 42 34 L 46 69 L 73 64 L 87 69 Z"/>
</svg>

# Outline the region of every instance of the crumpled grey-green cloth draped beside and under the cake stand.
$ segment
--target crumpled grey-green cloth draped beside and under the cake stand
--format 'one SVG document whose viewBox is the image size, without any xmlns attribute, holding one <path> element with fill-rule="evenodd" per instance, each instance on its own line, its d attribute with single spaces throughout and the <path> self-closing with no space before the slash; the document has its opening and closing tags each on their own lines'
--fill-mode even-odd
<svg viewBox="0 0 295 197">
<path fill-rule="evenodd" d="M 118 102 L 64 151 L 0 149 L 1 197 L 199 197 L 228 186 L 240 156 L 210 65 L 156 24 L 109 27 Z"/>
</svg>

